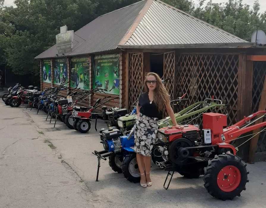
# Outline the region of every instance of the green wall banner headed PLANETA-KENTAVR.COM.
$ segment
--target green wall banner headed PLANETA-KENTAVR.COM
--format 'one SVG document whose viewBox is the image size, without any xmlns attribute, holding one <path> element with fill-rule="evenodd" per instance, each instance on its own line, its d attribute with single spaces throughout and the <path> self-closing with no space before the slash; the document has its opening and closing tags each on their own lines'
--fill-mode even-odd
<svg viewBox="0 0 266 208">
<path fill-rule="evenodd" d="M 89 57 L 71 59 L 71 87 L 89 89 Z"/>
</svg>

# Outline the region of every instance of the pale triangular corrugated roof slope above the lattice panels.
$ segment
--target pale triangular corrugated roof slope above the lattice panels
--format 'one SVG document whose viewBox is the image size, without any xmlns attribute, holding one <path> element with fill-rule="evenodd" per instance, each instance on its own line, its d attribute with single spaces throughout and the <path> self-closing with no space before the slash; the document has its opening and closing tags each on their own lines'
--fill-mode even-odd
<svg viewBox="0 0 266 208">
<path fill-rule="evenodd" d="M 247 42 L 161 1 L 154 0 L 125 45 Z"/>
</svg>

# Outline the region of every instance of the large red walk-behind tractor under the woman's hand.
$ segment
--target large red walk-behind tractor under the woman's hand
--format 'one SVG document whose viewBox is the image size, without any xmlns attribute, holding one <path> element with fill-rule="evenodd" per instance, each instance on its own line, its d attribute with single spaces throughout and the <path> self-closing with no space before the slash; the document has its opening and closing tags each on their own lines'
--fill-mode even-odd
<svg viewBox="0 0 266 208">
<path fill-rule="evenodd" d="M 222 200 L 240 196 L 246 189 L 249 172 L 246 163 L 236 155 L 238 149 L 229 143 L 244 133 L 266 126 L 266 122 L 252 125 L 265 113 L 258 111 L 229 127 L 226 115 L 204 113 L 202 130 L 193 125 L 185 125 L 184 129 L 171 126 L 159 129 L 158 139 L 164 146 L 157 148 L 165 160 L 160 165 L 168 171 L 163 187 L 168 189 L 174 172 L 187 178 L 204 175 L 204 187 L 212 196 Z M 255 119 L 259 115 L 261 117 Z"/>
</svg>

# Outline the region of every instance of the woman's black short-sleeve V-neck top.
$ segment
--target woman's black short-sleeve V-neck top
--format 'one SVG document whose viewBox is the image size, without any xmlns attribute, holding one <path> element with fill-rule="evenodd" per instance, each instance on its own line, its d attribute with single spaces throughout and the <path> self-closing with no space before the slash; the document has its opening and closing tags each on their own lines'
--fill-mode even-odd
<svg viewBox="0 0 266 208">
<path fill-rule="evenodd" d="M 152 101 L 150 104 L 148 92 L 144 92 L 138 99 L 138 106 L 141 106 L 140 113 L 151 118 L 161 118 L 161 112 L 158 110 L 157 105 Z"/>
</svg>

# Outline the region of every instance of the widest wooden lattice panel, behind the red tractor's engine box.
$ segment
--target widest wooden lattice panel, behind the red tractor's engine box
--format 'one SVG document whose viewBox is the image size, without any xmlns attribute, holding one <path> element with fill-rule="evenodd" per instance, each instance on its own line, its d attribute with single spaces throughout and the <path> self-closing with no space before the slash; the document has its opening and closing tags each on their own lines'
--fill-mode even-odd
<svg viewBox="0 0 266 208">
<path fill-rule="evenodd" d="M 222 100 L 229 104 L 226 112 L 228 125 L 231 125 L 237 122 L 237 76 L 238 55 L 180 54 L 175 79 L 176 97 L 187 93 L 187 105 L 212 96 Z M 193 123 L 199 124 L 201 119 L 199 117 Z"/>
</svg>

